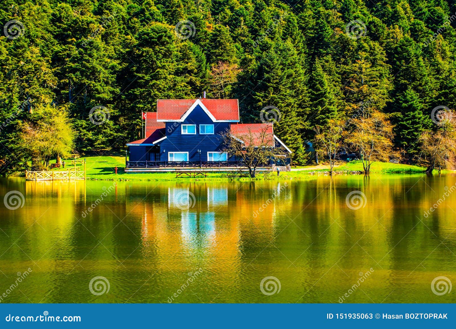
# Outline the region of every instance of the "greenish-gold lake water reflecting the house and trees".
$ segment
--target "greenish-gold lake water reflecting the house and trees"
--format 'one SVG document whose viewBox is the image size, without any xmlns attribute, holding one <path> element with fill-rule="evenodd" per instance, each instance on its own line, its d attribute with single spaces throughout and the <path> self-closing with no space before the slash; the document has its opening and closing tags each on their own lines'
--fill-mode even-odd
<svg viewBox="0 0 456 329">
<path fill-rule="evenodd" d="M 0 302 L 455 303 L 455 182 L 4 178 Z"/>
</svg>

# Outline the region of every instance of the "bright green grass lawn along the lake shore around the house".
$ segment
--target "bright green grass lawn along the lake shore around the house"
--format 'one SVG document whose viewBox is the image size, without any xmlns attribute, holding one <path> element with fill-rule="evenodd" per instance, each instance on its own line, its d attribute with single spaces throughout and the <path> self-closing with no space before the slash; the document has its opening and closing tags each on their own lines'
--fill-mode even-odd
<svg viewBox="0 0 456 329">
<path fill-rule="evenodd" d="M 100 157 L 81 157 L 81 160 L 86 159 L 86 177 L 88 179 L 129 179 L 140 181 L 167 181 L 167 180 L 195 180 L 195 178 L 179 177 L 176 178 L 174 172 L 150 172 L 150 173 L 125 173 L 125 157 L 119 156 L 100 156 Z M 55 161 L 51 161 L 54 163 Z M 65 168 L 54 170 L 68 170 L 71 165 L 71 160 L 65 160 Z M 114 173 L 114 168 L 117 166 L 117 175 Z M 84 170 L 83 165 L 77 165 L 79 170 Z M 293 178 L 306 178 L 310 177 L 309 172 L 328 172 L 327 166 L 310 166 L 308 170 L 306 167 L 299 167 L 300 171 L 281 172 L 279 179 L 293 179 Z M 334 168 L 334 171 L 362 171 L 363 163 L 361 161 L 352 161 L 342 164 Z M 372 173 L 422 173 L 425 167 L 409 166 L 404 164 L 395 164 L 389 162 L 374 162 L 371 166 Z M 208 172 L 207 177 L 198 177 L 197 180 L 225 180 L 226 177 L 220 172 Z M 249 178 L 240 178 L 241 180 L 249 180 Z M 259 172 L 257 179 L 278 179 L 275 172 L 266 174 Z"/>
</svg>

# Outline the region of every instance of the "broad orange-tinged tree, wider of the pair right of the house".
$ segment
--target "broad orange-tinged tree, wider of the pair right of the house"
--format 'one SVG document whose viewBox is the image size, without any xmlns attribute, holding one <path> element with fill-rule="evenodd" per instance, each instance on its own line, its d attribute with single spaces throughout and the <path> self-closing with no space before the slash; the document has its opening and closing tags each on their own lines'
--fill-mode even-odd
<svg viewBox="0 0 456 329">
<path fill-rule="evenodd" d="M 360 116 L 352 121 L 353 130 L 345 132 L 348 147 L 354 147 L 361 154 L 364 173 L 368 174 L 375 161 L 388 162 L 393 151 L 393 128 L 386 115 L 371 110 L 369 117 Z"/>
</svg>

